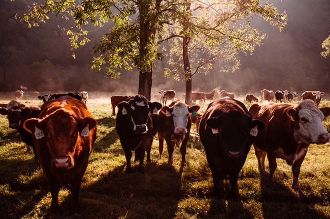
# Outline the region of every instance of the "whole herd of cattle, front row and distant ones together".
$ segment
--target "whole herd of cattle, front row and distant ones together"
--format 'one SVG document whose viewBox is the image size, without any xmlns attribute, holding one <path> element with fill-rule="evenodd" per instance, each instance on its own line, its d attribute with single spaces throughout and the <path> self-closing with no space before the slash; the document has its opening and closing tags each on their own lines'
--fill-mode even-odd
<svg viewBox="0 0 330 219">
<path fill-rule="evenodd" d="M 147 162 L 150 162 L 151 145 L 156 134 L 159 159 L 165 140 L 168 163 L 173 164 L 174 149 L 178 146 L 183 167 L 190 128 L 195 122 L 212 171 L 215 196 L 221 196 L 219 182 L 227 175 L 229 197 L 237 196 L 238 176 L 252 145 L 260 172 L 266 172 L 267 155 L 270 180 L 274 182 L 276 159 L 284 159 L 292 166 L 292 188 L 301 192 L 299 173 L 308 146 L 330 140 L 330 134 L 322 124 L 330 115 L 330 107 L 318 108 L 321 95 L 324 95 L 319 91 L 304 92 L 299 104 L 269 102 L 274 98 L 280 102 L 284 98 L 293 98 L 297 95 L 295 92 L 274 93 L 264 89 L 261 93 L 266 101 L 258 101 L 252 94 L 246 95 L 246 101 L 254 101 L 249 109 L 234 99 L 233 93 L 216 89 L 211 93 L 193 92 L 193 106 L 176 100 L 173 90 L 159 92 L 159 99 L 154 102 L 142 95 L 112 96 L 112 115 L 116 115 L 115 107 L 118 107 L 116 131 L 125 153 L 126 172 L 131 172 L 133 151 L 135 160 L 140 162 L 138 171 L 144 172 L 145 153 Z M 32 147 L 35 159 L 39 159 L 52 195 L 51 211 L 57 212 L 58 193 L 61 185 L 66 184 L 71 185 L 72 209 L 77 211 L 81 180 L 96 139 L 97 122 L 86 106 L 88 93 L 36 96 L 44 102 L 41 107 L 12 100 L 0 104 L 0 114 L 7 115 L 9 127 L 18 131 L 28 150 Z M 207 99 L 212 102 L 201 114 L 196 101 Z M 166 105 L 168 100 L 172 100 L 169 106 Z"/>
</svg>

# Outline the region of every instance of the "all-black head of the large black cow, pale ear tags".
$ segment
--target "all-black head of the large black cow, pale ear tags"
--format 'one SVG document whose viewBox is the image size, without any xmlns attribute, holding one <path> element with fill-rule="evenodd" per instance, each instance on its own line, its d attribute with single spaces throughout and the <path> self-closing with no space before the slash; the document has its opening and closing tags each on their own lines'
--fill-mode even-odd
<svg viewBox="0 0 330 219">
<path fill-rule="evenodd" d="M 238 111 L 208 118 L 206 124 L 211 127 L 213 135 L 219 136 L 223 156 L 233 159 L 244 156 L 246 146 L 252 144 L 253 136 L 265 128 L 262 121 Z"/>
</svg>

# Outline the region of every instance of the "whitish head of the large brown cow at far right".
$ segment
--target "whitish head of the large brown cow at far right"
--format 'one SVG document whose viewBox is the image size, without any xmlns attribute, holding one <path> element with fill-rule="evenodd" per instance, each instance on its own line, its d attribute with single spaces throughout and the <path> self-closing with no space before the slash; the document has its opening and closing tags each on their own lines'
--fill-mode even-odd
<svg viewBox="0 0 330 219">
<path fill-rule="evenodd" d="M 287 115 L 294 122 L 293 137 L 296 142 L 325 144 L 330 134 L 322 121 L 330 114 L 325 108 L 319 109 L 312 100 L 304 100 L 297 107 L 289 109 Z"/>
</svg>

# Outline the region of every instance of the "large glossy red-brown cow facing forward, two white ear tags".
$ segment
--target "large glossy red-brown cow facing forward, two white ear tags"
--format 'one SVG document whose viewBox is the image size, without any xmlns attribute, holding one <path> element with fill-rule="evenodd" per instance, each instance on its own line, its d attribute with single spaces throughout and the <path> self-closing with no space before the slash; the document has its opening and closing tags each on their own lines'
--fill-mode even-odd
<svg viewBox="0 0 330 219">
<path fill-rule="evenodd" d="M 38 118 L 27 119 L 23 124 L 33 134 L 52 196 L 53 214 L 59 210 L 60 187 L 68 184 L 72 193 L 71 209 L 79 211 L 80 184 L 96 139 L 96 123 L 82 101 L 62 96 L 44 103 Z"/>
</svg>

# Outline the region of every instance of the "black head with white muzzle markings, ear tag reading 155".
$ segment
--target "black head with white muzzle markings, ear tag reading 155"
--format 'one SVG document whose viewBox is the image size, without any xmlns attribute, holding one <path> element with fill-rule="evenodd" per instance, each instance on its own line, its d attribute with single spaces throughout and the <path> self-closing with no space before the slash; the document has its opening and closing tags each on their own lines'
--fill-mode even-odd
<svg viewBox="0 0 330 219">
<path fill-rule="evenodd" d="M 133 123 L 133 131 L 138 134 L 146 134 L 148 132 L 148 123 L 150 123 L 151 114 L 157 114 L 161 108 L 158 102 L 150 102 L 144 96 L 137 95 L 128 102 L 120 102 L 118 107 L 118 114 L 130 116 Z M 149 125 L 149 127 L 150 127 Z"/>
</svg>

